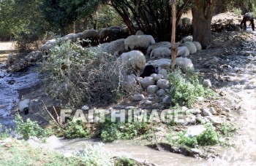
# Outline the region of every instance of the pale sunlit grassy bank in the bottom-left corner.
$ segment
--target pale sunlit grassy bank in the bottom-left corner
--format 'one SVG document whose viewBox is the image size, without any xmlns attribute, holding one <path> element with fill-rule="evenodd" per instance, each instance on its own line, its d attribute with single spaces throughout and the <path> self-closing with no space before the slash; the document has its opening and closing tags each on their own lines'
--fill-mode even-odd
<svg viewBox="0 0 256 166">
<path fill-rule="evenodd" d="M 0 165 L 83 165 L 80 159 L 67 158 L 56 151 L 34 149 L 23 141 L 12 140 L 10 145 L 9 148 L 0 146 Z"/>
</svg>

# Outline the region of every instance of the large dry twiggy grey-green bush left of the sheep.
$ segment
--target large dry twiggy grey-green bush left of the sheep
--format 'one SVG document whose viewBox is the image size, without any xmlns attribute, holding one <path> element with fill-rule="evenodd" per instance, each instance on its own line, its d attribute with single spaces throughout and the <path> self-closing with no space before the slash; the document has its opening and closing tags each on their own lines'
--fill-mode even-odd
<svg viewBox="0 0 256 166">
<path fill-rule="evenodd" d="M 98 49 L 84 49 L 70 41 L 53 47 L 41 66 L 49 94 L 75 107 L 113 103 L 122 98 L 123 65 Z"/>
</svg>

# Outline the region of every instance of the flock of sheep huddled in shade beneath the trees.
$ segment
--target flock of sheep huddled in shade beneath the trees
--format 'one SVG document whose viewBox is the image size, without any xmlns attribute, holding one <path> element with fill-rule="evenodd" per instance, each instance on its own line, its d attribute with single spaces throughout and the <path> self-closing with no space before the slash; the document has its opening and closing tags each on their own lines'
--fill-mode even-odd
<svg viewBox="0 0 256 166">
<path fill-rule="evenodd" d="M 184 19 L 184 23 L 187 25 L 190 20 Z M 121 37 L 127 36 L 124 39 Z M 119 39 L 121 38 L 121 39 Z M 146 56 L 148 58 L 170 58 L 171 43 L 170 42 L 155 42 L 153 36 L 143 34 L 142 31 L 137 31 L 135 35 L 129 35 L 128 28 L 121 28 L 118 26 L 112 26 L 110 28 L 102 28 L 96 30 L 86 30 L 82 33 L 71 33 L 61 38 L 61 41 L 71 40 L 72 42 L 80 39 L 83 46 L 88 46 L 88 41 L 91 42 L 94 51 L 108 52 L 109 54 L 120 56 L 120 59 L 125 63 L 127 70 L 132 69 L 137 72 L 137 75 L 143 73 L 146 66 Z M 46 42 L 40 50 L 47 52 L 56 40 L 49 40 Z M 100 44 L 99 44 L 100 43 Z M 181 40 L 178 44 L 178 61 L 188 61 L 187 56 L 194 54 L 197 50 L 201 50 L 202 47 L 199 42 L 192 42 L 192 37 L 189 36 Z M 189 61 L 191 62 L 191 60 Z M 187 64 L 187 63 L 179 63 Z M 154 66 L 155 68 L 157 66 Z M 187 66 L 181 68 L 186 69 Z"/>
</svg>

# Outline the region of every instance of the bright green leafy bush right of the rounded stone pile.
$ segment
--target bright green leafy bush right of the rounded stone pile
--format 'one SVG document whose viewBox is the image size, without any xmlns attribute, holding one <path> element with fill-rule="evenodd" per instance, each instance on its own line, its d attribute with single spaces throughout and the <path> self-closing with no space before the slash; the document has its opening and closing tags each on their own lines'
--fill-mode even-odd
<svg viewBox="0 0 256 166">
<path fill-rule="evenodd" d="M 175 105 L 190 107 L 195 98 L 205 98 L 214 94 L 212 90 L 206 89 L 200 84 L 197 74 L 193 71 L 187 71 L 182 74 L 180 70 L 176 70 L 170 73 L 168 78 L 173 87 L 170 95 Z"/>
</svg>

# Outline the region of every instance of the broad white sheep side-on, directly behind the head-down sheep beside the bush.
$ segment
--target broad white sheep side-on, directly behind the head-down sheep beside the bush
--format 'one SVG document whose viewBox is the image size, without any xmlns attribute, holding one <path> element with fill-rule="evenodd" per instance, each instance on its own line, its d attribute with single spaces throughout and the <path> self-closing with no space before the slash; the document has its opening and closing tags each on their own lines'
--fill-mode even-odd
<svg viewBox="0 0 256 166">
<path fill-rule="evenodd" d="M 154 44 L 154 38 L 151 35 L 131 35 L 124 40 L 125 50 L 133 50 L 134 48 L 148 48 L 150 44 Z"/>
</svg>

